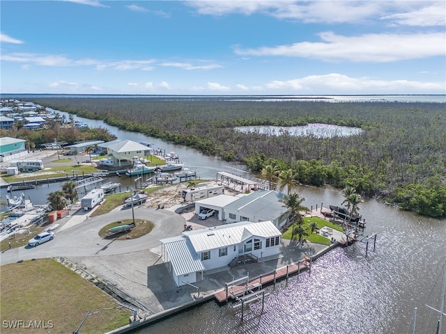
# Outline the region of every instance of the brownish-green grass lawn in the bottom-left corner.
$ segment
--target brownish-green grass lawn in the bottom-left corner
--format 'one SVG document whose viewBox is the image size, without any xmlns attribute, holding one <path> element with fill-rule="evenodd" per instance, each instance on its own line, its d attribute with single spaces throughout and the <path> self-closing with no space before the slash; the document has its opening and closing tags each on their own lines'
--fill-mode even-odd
<svg viewBox="0 0 446 334">
<path fill-rule="evenodd" d="M 72 333 L 89 310 L 80 333 L 105 333 L 128 324 L 130 311 L 54 259 L 4 264 L 1 269 L 1 333 Z M 6 328 L 5 321 L 47 328 Z M 11 324 L 11 322 L 7 322 Z M 49 328 L 49 327 L 52 328 Z"/>
</svg>

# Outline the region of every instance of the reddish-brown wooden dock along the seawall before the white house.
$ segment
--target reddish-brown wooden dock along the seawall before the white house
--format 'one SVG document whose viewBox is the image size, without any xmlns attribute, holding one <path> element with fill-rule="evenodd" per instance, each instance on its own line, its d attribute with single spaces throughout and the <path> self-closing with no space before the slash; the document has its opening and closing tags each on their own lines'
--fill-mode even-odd
<svg viewBox="0 0 446 334">
<path fill-rule="evenodd" d="M 252 293 L 256 289 L 262 289 L 263 285 L 275 284 L 277 280 L 289 278 L 301 271 L 306 271 L 311 265 L 311 260 L 308 258 L 298 263 L 289 264 L 288 266 L 275 269 L 270 273 L 261 275 L 257 278 L 249 280 L 247 283 L 230 285 L 226 283 L 226 287 L 220 291 L 215 292 L 214 297 L 219 303 L 224 303 L 229 299 L 237 300 L 240 296 Z"/>
</svg>

